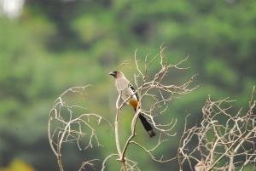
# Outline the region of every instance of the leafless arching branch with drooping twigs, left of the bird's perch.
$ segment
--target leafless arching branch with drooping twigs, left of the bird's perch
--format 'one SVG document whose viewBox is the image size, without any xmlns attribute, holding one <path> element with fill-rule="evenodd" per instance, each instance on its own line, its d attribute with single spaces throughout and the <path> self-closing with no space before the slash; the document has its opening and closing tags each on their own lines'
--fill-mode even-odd
<svg viewBox="0 0 256 171">
<path fill-rule="evenodd" d="M 65 101 L 68 94 L 79 94 L 86 96 L 84 87 L 73 87 L 67 89 L 61 94 L 54 102 L 54 105 L 49 111 L 49 123 L 48 123 L 48 138 L 51 150 L 54 152 L 57 158 L 58 166 L 61 171 L 64 171 L 62 162 L 62 146 L 66 143 L 75 142 L 79 147 L 79 150 L 93 148 L 95 145 L 100 146 L 101 143 L 96 134 L 96 129 L 93 124 L 90 123 L 90 118 L 95 118 L 96 123 L 100 124 L 103 122 L 108 123 L 111 127 L 112 124 L 108 120 L 96 113 L 90 113 L 90 111 L 80 105 L 70 105 Z M 85 113 L 76 113 L 77 110 L 86 111 Z M 84 136 L 87 136 L 87 144 L 81 144 Z M 96 142 L 96 143 L 94 143 Z M 81 163 L 79 170 L 83 170 L 84 166 L 88 165 L 91 168 L 94 167 L 94 163 L 98 159 L 91 159 Z"/>
</svg>

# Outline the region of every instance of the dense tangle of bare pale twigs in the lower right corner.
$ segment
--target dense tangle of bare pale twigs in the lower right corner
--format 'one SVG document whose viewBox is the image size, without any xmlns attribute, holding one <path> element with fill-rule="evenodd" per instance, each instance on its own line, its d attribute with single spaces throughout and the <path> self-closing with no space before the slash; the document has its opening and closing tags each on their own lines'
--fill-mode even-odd
<svg viewBox="0 0 256 171">
<path fill-rule="evenodd" d="M 256 115 L 254 88 L 247 111 L 234 114 L 232 100 L 212 100 L 209 96 L 202 108 L 203 120 L 199 126 L 185 127 L 178 149 L 180 170 L 189 162 L 205 163 L 195 170 L 242 170 L 256 164 Z M 192 149 L 191 146 L 197 145 Z M 198 153 L 201 158 L 198 158 Z"/>
</svg>

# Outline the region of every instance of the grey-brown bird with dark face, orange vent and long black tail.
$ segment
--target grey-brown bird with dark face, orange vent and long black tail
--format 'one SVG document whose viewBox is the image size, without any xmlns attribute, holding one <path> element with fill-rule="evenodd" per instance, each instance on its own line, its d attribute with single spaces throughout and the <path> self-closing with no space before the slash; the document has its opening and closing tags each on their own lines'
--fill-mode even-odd
<svg viewBox="0 0 256 171">
<path fill-rule="evenodd" d="M 122 100 L 126 101 L 127 105 L 137 112 L 137 105 L 139 103 L 138 95 L 135 91 L 135 88 L 132 87 L 131 82 L 125 77 L 121 71 L 111 71 L 109 72 L 110 76 L 115 78 L 115 87 L 121 96 Z M 143 123 L 143 127 L 148 132 L 149 137 L 154 137 L 156 135 L 151 124 L 148 122 L 147 118 L 144 117 L 143 113 L 139 113 L 138 117 Z"/>
</svg>

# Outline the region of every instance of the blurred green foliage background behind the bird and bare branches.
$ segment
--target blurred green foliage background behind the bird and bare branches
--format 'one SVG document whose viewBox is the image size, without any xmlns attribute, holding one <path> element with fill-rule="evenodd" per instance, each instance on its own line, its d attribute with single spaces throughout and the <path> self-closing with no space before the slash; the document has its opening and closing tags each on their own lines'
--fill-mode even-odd
<svg viewBox="0 0 256 171">
<path fill-rule="evenodd" d="M 141 59 L 159 53 L 162 43 L 171 61 L 189 55 L 185 66 L 190 69 L 173 70 L 173 83 L 198 74 L 200 88 L 173 100 L 167 111 L 166 120 L 177 118 L 177 137 L 160 150 L 166 157 L 176 154 L 184 116 L 191 113 L 190 125 L 200 122 L 208 94 L 214 99 L 229 96 L 238 109 L 247 107 L 256 84 L 256 1 L 26 0 L 20 14 L 13 15 L 4 10 L 7 1 L 0 1 L 1 171 L 57 170 L 47 119 L 55 98 L 67 88 L 92 84 L 86 107 L 113 122 L 117 93 L 108 72 L 132 60 L 136 49 Z M 131 70 L 125 73 L 132 78 Z M 78 170 L 83 158 L 102 159 L 115 150 L 113 131 L 107 124 L 101 127 L 104 148 L 67 147 L 67 170 Z M 137 140 L 148 143 L 140 127 Z M 152 162 L 137 148 L 128 155 L 142 170 L 177 170 L 177 162 Z M 113 160 L 107 170 L 119 170 L 117 166 Z"/>
</svg>

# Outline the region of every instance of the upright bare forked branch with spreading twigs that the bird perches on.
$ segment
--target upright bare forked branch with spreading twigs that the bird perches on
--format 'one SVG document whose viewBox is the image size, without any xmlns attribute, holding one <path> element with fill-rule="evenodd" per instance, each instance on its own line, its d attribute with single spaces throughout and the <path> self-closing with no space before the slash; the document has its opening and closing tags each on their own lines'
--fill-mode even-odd
<svg viewBox="0 0 256 171">
<path fill-rule="evenodd" d="M 169 123 L 159 123 L 156 121 L 156 117 L 160 117 L 160 115 L 164 115 L 167 111 L 168 105 L 173 100 L 174 97 L 180 96 L 183 94 L 189 94 L 195 88 L 190 88 L 191 83 L 193 83 L 194 77 L 192 76 L 189 81 L 182 83 L 180 85 L 174 83 L 168 83 L 168 73 L 171 69 L 176 70 L 186 70 L 187 67 L 183 67 L 183 63 L 188 60 L 188 57 L 184 60 L 177 62 L 176 64 L 171 64 L 166 59 L 164 54 L 165 48 L 160 48 L 160 54 L 157 54 L 153 57 L 149 57 L 148 55 L 144 58 L 144 60 L 137 59 L 137 51 L 134 57 L 134 63 L 137 67 L 137 74 L 134 75 L 134 84 L 137 87 L 137 91 L 135 92 L 140 97 L 140 104 L 137 107 L 137 112 L 134 115 L 131 122 L 131 134 L 125 141 L 125 145 L 121 147 L 119 145 L 119 125 L 118 118 L 120 116 L 121 108 L 125 105 L 127 100 L 121 101 L 120 97 L 116 101 L 116 117 L 115 117 L 115 140 L 117 151 L 119 154 L 119 161 L 122 162 L 123 168 L 122 170 L 140 170 L 137 168 L 136 162 L 131 159 L 126 158 L 126 151 L 128 146 L 137 145 L 140 149 L 146 152 L 152 160 L 156 162 L 170 162 L 174 160 L 176 157 L 162 157 L 157 158 L 154 156 L 153 151 L 163 145 L 166 141 L 170 140 L 170 137 L 174 136 L 176 133 L 173 131 L 173 128 L 176 124 L 176 119 L 170 119 Z M 156 62 L 158 63 L 159 68 L 157 71 L 152 71 L 152 64 Z M 124 65 L 124 64 L 123 64 Z M 125 63 L 127 65 L 127 62 Z M 150 105 L 145 105 L 143 103 L 147 101 Z M 134 140 L 136 136 L 136 125 L 137 125 L 137 117 L 140 113 L 143 113 L 145 117 L 148 118 L 149 123 L 151 123 L 158 133 L 160 134 L 158 143 L 154 145 L 151 149 L 147 149 L 144 145 L 138 143 Z M 164 139 L 164 137 L 169 137 Z M 132 167 L 131 167 L 132 166 Z M 136 167 L 135 167 L 136 166 Z"/>
</svg>

